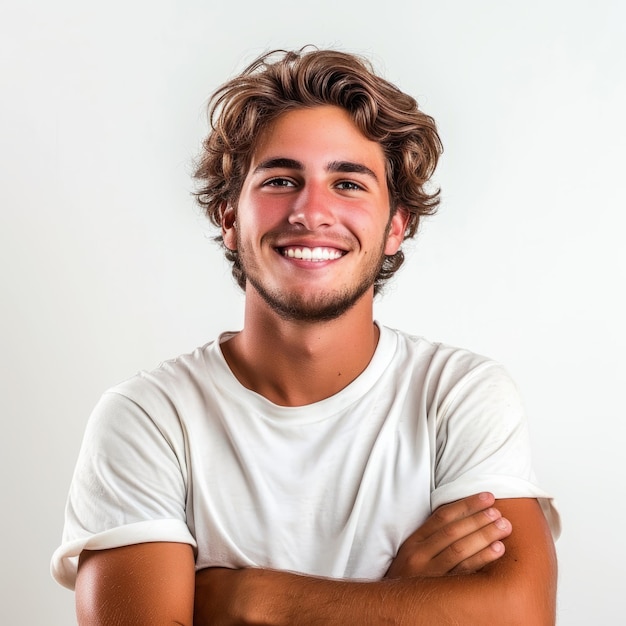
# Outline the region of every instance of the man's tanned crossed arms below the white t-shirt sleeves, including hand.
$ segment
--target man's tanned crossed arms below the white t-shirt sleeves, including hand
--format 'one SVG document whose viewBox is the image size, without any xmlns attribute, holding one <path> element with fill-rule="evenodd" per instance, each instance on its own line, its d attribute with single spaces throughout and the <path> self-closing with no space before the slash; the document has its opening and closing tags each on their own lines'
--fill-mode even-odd
<svg viewBox="0 0 626 626">
<path fill-rule="evenodd" d="M 555 623 L 556 557 L 534 499 L 480 494 L 441 507 L 375 582 L 265 569 L 194 572 L 191 546 L 83 552 L 79 624 L 444 626 Z"/>
</svg>

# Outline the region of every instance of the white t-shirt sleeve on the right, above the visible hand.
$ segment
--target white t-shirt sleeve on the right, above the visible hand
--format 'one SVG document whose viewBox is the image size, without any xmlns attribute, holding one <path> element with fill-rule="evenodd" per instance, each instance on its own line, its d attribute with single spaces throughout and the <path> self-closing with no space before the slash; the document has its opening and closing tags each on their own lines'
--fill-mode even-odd
<svg viewBox="0 0 626 626">
<path fill-rule="evenodd" d="M 497 363 L 465 374 L 437 411 L 434 509 L 480 491 L 496 498 L 537 498 L 553 537 L 561 524 L 554 499 L 537 486 L 518 389 Z"/>
</svg>

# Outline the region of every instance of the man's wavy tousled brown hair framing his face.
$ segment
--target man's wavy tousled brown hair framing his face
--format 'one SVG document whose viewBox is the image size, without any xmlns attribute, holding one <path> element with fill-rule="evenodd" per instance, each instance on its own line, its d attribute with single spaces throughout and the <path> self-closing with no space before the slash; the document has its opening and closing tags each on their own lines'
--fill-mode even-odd
<svg viewBox="0 0 626 626">
<path fill-rule="evenodd" d="M 439 190 L 425 189 L 443 150 L 434 119 L 418 109 L 414 98 L 377 76 L 367 59 L 310 46 L 261 55 L 211 97 L 210 132 L 194 173 L 200 181 L 196 199 L 208 218 L 220 227 L 226 206 L 236 206 L 262 131 L 288 110 L 320 105 L 342 107 L 368 139 L 380 144 L 391 214 L 400 206 L 407 211 L 405 239 L 413 237 L 420 218 L 432 215 L 439 204 Z M 237 251 L 224 248 L 233 276 L 245 289 Z M 375 293 L 403 262 L 402 250 L 385 257 Z"/>
</svg>

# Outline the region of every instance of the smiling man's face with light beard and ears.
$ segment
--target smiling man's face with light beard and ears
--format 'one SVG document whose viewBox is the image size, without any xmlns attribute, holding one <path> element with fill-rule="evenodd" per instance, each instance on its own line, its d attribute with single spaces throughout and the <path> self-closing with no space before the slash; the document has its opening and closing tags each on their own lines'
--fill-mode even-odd
<svg viewBox="0 0 626 626">
<path fill-rule="evenodd" d="M 365 294 L 385 254 L 397 252 L 406 214 L 390 219 L 385 159 L 346 111 L 302 108 L 259 138 L 224 243 L 285 319 L 334 319 Z"/>
</svg>

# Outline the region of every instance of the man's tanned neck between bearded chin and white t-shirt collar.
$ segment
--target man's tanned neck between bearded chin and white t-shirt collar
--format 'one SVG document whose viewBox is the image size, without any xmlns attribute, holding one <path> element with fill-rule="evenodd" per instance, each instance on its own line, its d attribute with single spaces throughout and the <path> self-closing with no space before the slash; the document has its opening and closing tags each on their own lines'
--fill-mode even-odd
<svg viewBox="0 0 626 626">
<path fill-rule="evenodd" d="M 275 404 L 302 406 L 341 391 L 368 365 L 379 331 L 373 295 L 326 322 L 284 320 L 246 295 L 243 330 L 222 344 L 233 374 Z"/>
</svg>

